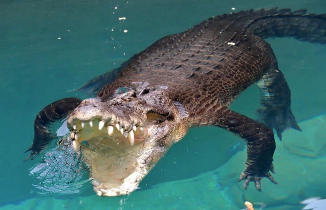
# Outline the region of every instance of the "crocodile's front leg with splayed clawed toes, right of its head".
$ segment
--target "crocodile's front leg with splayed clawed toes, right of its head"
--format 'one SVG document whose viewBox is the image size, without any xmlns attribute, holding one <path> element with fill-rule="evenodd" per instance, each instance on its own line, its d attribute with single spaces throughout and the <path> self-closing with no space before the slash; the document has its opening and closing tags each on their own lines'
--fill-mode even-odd
<svg viewBox="0 0 326 210">
<path fill-rule="evenodd" d="M 214 118 L 210 124 L 229 130 L 245 139 L 247 148 L 247 161 L 244 171 L 238 181 L 244 180 L 243 187 L 247 189 L 249 182 L 255 182 L 260 191 L 260 181 L 267 177 L 277 184 L 269 171 L 274 173 L 273 154 L 275 151 L 274 134 L 268 127 L 230 110 L 221 110 L 220 116 Z"/>
</svg>

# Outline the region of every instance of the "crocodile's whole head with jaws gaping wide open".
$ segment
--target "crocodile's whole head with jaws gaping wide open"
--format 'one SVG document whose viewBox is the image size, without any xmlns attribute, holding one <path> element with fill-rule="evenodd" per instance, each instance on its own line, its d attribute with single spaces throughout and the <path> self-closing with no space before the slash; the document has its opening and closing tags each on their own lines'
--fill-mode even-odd
<svg viewBox="0 0 326 210">
<path fill-rule="evenodd" d="M 81 149 L 100 196 L 137 189 L 169 147 L 187 132 L 187 113 L 164 91 L 130 90 L 107 101 L 89 98 L 69 115 L 75 150 Z"/>
</svg>

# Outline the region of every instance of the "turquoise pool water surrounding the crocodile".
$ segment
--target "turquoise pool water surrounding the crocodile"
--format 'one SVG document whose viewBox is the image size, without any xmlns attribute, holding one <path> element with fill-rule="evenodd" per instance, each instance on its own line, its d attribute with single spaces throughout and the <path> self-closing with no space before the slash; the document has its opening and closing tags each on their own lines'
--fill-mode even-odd
<svg viewBox="0 0 326 210">
<path fill-rule="evenodd" d="M 301 200 L 326 198 L 326 46 L 269 39 L 292 90 L 292 111 L 303 132 L 286 131 L 274 158 L 278 185 L 262 192 L 237 182 L 244 143 L 218 128 L 192 129 L 129 196 L 97 197 L 91 187 L 74 194 L 41 195 L 23 160 L 37 113 L 90 78 L 116 68 L 157 39 L 219 14 L 251 8 L 308 9 L 326 13 L 324 1 L 1 1 L 0 208 L 1 209 L 301 209 Z M 126 17 L 125 21 L 119 21 Z M 128 30 L 124 33 L 124 30 Z M 232 109 L 255 118 L 259 91 L 249 88 Z M 241 142 L 240 145 L 237 143 Z M 256 204 L 260 206 L 262 204 Z M 257 208 L 256 208 L 257 209 Z"/>
</svg>

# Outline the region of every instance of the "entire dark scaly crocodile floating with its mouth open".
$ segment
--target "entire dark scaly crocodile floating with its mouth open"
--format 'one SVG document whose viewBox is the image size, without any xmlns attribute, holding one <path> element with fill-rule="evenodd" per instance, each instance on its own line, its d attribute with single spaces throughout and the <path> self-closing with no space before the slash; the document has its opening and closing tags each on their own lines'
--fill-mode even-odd
<svg viewBox="0 0 326 210">
<path fill-rule="evenodd" d="M 226 129 L 247 143 L 239 180 L 261 190 L 272 173 L 274 131 L 301 131 L 291 112 L 291 92 L 268 37 L 326 43 L 326 15 L 306 10 L 259 9 L 209 18 L 182 33 L 156 41 L 121 67 L 78 88 L 90 98 L 64 98 L 36 117 L 26 158 L 54 139 L 50 125 L 67 118 L 66 141 L 82 155 L 94 191 L 118 196 L 136 190 L 168 149 L 194 126 Z M 257 83 L 258 120 L 229 109 Z"/>
</svg>

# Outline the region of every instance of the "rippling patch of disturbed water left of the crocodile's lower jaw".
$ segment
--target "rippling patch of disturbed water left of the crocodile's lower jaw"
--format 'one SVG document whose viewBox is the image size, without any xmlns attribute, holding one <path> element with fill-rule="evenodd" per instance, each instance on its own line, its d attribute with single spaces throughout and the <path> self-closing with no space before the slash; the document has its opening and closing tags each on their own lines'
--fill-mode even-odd
<svg viewBox="0 0 326 210">
<path fill-rule="evenodd" d="M 30 170 L 37 179 L 34 184 L 38 194 L 62 195 L 79 193 L 91 185 L 88 184 L 88 171 L 81 162 L 80 152 L 75 152 L 68 137 L 44 154 L 41 163 Z"/>
</svg>

